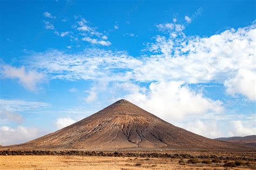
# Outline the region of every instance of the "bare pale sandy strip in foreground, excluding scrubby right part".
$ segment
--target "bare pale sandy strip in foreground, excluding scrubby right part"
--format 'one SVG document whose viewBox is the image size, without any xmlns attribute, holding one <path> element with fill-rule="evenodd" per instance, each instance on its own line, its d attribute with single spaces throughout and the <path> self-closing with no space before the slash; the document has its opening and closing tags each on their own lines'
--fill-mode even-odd
<svg viewBox="0 0 256 170">
<path fill-rule="evenodd" d="M 2 155 L 0 169 L 224 169 L 216 164 L 179 165 L 178 161 L 170 158 Z"/>
</svg>

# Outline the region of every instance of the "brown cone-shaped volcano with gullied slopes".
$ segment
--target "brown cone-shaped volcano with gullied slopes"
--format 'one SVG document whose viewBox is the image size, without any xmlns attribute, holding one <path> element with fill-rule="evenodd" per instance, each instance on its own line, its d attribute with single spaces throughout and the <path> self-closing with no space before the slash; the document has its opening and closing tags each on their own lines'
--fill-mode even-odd
<svg viewBox="0 0 256 170">
<path fill-rule="evenodd" d="M 251 149 L 250 146 L 217 141 L 186 131 L 124 99 L 75 124 L 20 146 L 88 151 Z"/>
</svg>

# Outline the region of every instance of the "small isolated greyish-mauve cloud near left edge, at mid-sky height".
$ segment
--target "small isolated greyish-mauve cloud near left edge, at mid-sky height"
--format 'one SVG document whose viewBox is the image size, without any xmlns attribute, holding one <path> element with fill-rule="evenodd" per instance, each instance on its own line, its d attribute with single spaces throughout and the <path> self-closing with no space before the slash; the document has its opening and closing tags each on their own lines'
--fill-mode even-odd
<svg viewBox="0 0 256 170">
<path fill-rule="evenodd" d="M 30 91 L 35 91 L 36 85 L 44 79 L 43 73 L 38 73 L 33 70 L 26 72 L 24 66 L 20 68 L 9 66 L 9 69 L 4 72 L 3 76 L 5 78 L 18 79 L 19 83 Z"/>
</svg>

